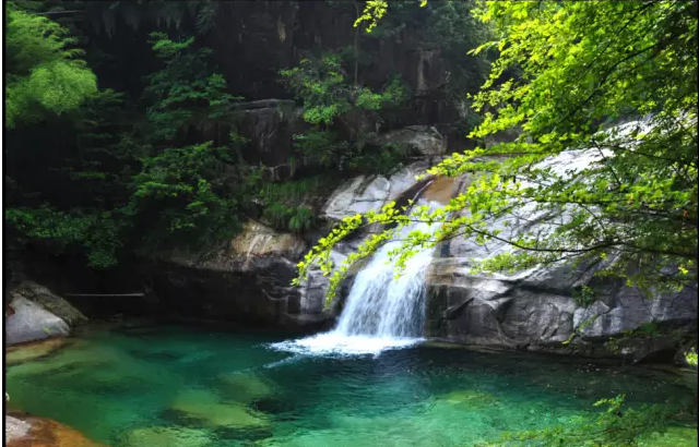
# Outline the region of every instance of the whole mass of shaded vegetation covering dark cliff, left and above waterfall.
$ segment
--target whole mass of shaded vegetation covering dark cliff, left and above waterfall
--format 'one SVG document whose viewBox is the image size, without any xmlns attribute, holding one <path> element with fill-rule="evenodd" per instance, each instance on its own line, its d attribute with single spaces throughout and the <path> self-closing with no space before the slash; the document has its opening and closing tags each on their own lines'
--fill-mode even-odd
<svg viewBox="0 0 699 447">
<path fill-rule="evenodd" d="M 327 8 L 357 19 L 363 4 Z M 213 49 L 222 17 L 238 7 L 5 3 L 4 219 L 11 256 L 32 249 L 109 268 L 133 254 L 210 246 L 229 239 L 247 218 L 310 231 L 318 198 L 337 180 L 393 171 L 411 155 L 407 147 L 374 138 L 411 123 L 406 112 L 415 100 L 398 73 L 374 75 L 382 64 L 375 49 L 381 33 L 402 29 L 422 9 L 418 3 L 395 5 L 372 35 L 357 27 L 348 45 L 312 47 L 291 68 L 274 70 L 276 84 L 303 105 L 307 123 L 282 160 L 291 174 L 274 179 L 265 174 L 272 166 L 254 153 L 256 135 L 241 129 L 246 112 L 236 92 L 246 86 L 225 67 L 227 56 Z M 439 11 L 434 20 L 411 23 L 423 36 L 419 45 L 457 58 L 484 41 L 485 27 L 459 27 L 470 20 L 470 8 L 446 2 Z M 454 78 L 483 77 L 486 65 L 467 65 Z M 333 181 L 309 189 L 303 203 L 298 194 L 272 193 L 312 183 L 321 171 Z"/>
</svg>

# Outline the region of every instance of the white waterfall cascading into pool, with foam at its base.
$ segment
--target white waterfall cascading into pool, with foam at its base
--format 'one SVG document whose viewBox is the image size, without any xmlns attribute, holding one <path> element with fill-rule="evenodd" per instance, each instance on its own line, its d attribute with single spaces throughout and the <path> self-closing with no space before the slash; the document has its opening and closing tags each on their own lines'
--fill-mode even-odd
<svg viewBox="0 0 699 447">
<path fill-rule="evenodd" d="M 425 203 L 418 202 L 418 205 Z M 411 257 L 398 278 L 389 257 L 391 250 L 400 246 L 402 239 L 414 230 L 428 232 L 430 226 L 416 222 L 403 228 L 372 255 L 355 277 L 333 330 L 272 347 L 310 354 L 378 354 L 420 341 L 425 323 L 425 275 L 433 250 L 423 250 Z"/>
</svg>

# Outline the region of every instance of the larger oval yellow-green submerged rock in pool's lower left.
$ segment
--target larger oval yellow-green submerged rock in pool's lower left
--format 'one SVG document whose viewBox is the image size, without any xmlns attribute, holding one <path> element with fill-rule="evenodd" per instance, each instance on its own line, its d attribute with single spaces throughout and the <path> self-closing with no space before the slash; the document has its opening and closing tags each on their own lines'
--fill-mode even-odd
<svg viewBox="0 0 699 447">
<path fill-rule="evenodd" d="M 185 420 L 193 420 L 211 428 L 236 431 L 270 431 L 272 424 L 264 414 L 240 402 L 223 402 L 204 389 L 183 391 L 170 403 L 169 410 Z"/>
</svg>

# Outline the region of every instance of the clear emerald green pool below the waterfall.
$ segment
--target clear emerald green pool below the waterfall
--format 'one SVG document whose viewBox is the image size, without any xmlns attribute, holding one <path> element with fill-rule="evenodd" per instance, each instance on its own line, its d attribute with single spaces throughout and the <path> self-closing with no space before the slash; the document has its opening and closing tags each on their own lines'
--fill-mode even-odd
<svg viewBox="0 0 699 447">
<path fill-rule="evenodd" d="M 9 366 L 7 389 L 13 407 L 115 447 L 469 446 L 591 418 L 595 400 L 620 392 L 629 403 L 694 398 L 682 377 L 642 369 L 419 345 L 306 355 L 270 346 L 281 340 L 93 328 Z M 696 445 L 695 427 L 657 445 Z"/>
</svg>

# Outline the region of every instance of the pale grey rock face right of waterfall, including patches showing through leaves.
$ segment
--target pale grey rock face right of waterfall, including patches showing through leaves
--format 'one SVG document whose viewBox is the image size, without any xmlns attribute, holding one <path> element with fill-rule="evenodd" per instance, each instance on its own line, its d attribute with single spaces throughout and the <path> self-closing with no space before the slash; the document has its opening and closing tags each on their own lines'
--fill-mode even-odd
<svg viewBox="0 0 699 447">
<path fill-rule="evenodd" d="M 562 170 L 590 161 L 589 153 L 569 152 L 546 164 Z M 545 234 L 552 213 L 556 212 L 523 207 L 512 210 L 512 217 L 490 222 L 490 228 L 500 229 L 508 239 L 525 230 Z M 509 247 L 497 241 L 484 246 L 463 238 L 443 242 L 436 250 L 438 258 L 427 278 L 427 336 L 475 345 L 560 348 L 576 331 L 581 341 L 578 348 L 584 351 L 645 323 L 696 325 L 694 290 L 685 288 L 650 300 L 624 282 L 593 276 L 601 265 L 572 268 L 569 263 L 558 263 L 512 275 L 471 274 L 472 259 L 506 250 Z M 595 291 L 594 302 L 583 304 L 576 300 L 576 291 L 582 286 Z M 630 347 L 629 351 L 645 349 L 638 348 Z"/>
</svg>

